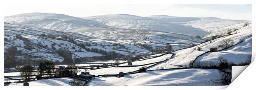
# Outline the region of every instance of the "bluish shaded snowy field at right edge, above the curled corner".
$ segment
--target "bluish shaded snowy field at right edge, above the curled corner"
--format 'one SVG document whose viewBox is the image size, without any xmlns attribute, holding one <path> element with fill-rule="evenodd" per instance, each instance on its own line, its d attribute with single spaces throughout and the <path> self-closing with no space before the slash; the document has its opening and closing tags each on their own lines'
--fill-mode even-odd
<svg viewBox="0 0 256 90">
<path fill-rule="evenodd" d="M 209 52 L 199 56 L 197 59 L 198 61 L 195 62 L 220 63 L 218 57 L 221 56 L 224 59 L 227 59 L 228 62 L 239 64 L 247 61 L 249 59 L 249 55 L 251 55 L 251 37 L 245 38 L 242 43 L 230 47 L 228 50 Z"/>
</svg>

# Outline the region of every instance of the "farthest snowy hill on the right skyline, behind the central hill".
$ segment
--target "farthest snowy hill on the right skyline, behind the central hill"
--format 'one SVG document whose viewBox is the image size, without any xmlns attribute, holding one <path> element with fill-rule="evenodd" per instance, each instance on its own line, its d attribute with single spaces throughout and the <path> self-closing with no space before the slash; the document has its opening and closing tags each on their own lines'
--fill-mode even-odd
<svg viewBox="0 0 256 90">
<path fill-rule="evenodd" d="M 251 23 L 251 21 L 247 20 L 228 20 L 221 18 L 173 17 L 166 15 L 153 15 L 148 17 L 170 23 L 191 26 L 210 32 L 210 34 L 204 36 L 205 39 L 209 39 L 211 36 L 220 35 L 227 32 L 229 29 L 240 29 L 246 22 Z"/>
</svg>

